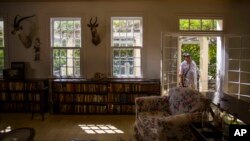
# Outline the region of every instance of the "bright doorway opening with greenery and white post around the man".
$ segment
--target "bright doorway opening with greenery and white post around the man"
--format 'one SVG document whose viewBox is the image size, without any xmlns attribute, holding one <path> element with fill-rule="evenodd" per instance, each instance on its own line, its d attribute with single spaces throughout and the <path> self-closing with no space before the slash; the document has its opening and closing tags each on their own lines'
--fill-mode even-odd
<svg viewBox="0 0 250 141">
<path fill-rule="evenodd" d="M 180 54 L 178 66 L 184 59 L 181 54 L 190 53 L 192 60 L 197 65 L 197 86 L 201 92 L 219 90 L 221 43 L 219 36 L 179 36 L 178 38 L 178 54 Z"/>
</svg>

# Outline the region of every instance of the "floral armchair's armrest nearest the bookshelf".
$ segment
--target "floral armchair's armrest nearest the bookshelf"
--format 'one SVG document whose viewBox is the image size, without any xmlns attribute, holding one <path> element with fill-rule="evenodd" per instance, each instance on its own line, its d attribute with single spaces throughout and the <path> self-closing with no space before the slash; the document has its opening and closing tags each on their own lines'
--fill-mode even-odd
<svg viewBox="0 0 250 141">
<path fill-rule="evenodd" d="M 167 96 L 147 96 L 135 98 L 136 113 L 165 111 L 169 112 L 169 102 Z"/>
</svg>

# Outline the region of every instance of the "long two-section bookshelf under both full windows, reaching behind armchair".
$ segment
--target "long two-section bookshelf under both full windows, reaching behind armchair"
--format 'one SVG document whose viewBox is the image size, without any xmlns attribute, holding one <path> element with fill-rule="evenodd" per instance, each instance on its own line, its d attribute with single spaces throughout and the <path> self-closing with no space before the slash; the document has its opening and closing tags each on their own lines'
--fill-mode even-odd
<svg viewBox="0 0 250 141">
<path fill-rule="evenodd" d="M 52 81 L 56 114 L 134 114 L 135 97 L 160 95 L 159 80 L 55 79 Z"/>
</svg>

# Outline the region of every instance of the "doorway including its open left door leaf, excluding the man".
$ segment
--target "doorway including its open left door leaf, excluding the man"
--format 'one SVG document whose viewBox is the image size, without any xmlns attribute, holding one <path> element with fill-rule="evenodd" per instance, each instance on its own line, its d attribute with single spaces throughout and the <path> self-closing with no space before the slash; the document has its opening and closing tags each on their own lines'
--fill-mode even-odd
<svg viewBox="0 0 250 141">
<path fill-rule="evenodd" d="M 199 91 L 222 91 L 224 70 L 222 50 L 224 49 L 221 36 L 162 33 L 162 95 L 167 94 L 170 88 L 179 85 L 179 66 L 184 51 L 189 51 L 199 68 Z"/>
</svg>

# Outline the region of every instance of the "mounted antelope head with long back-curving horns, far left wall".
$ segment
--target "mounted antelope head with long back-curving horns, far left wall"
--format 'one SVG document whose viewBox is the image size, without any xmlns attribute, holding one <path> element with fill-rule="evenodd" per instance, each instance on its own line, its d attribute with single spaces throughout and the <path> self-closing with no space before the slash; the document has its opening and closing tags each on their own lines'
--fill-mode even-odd
<svg viewBox="0 0 250 141">
<path fill-rule="evenodd" d="M 23 31 L 23 27 L 21 24 L 22 21 L 28 19 L 28 18 L 31 18 L 31 17 L 34 17 L 35 15 L 32 15 L 32 16 L 27 16 L 27 17 L 22 17 L 20 19 L 18 19 L 18 16 L 19 15 L 16 15 L 15 16 L 15 19 L 14 19 L 14 24 L 13 24 L 13 31 L 11 32 L 11 34 L 13 35 L 18 35 L 20 41 L 22 42 L 22 44 L 26 47 L 26 48 L 30 48 L 31 47 L 31 38 L 29 36 L 27 36 L 24 31 Z"/>
</svg>

